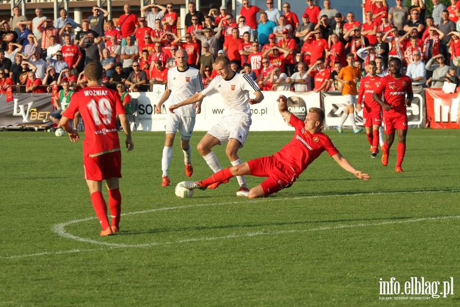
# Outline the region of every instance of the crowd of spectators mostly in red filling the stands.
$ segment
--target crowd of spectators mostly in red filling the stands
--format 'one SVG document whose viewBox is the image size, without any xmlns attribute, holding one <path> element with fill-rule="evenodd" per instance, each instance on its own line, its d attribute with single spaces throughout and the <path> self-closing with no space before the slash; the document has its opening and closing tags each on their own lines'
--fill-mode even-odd
<svg viewBox="0 0 460 307">
<path fill-rule="evenodd" d="M 177 27 L 171 3 L 144 6 L 142 16 L 126 4 L 116 22 L 94 6 L 81 24 L 65 9 L 52 20 L 37 8 L 28 20 L 15 7 L 10 20 L 0 23 L 0 92 L 15 85 L 18 93 L 52 92 L 63 82 L 84 87 L 82 71 L 92 60 L 103 64 L 105 86 L 117 89 L 122 83 L 132 92 L 149 91 L 151 84 L 166 84 L 178 49 L 186 50 L 188 65 L 200 70 L 204 84 L 217 75 L 213 63 L 221 53 L 232 70 L 247 74 L 263 90 L 340 91 L 336 77 L 349 53 L 364 73 L 376 60 L 385 74 L 388 58 L 399 57 L 415 86 L 458 83 L 460 0 L 451 0 L 447 8 L 429 1 L 430 15 L 422 0 L 412 0 L 410 7 L 396 0 L 391 8 L 386 0 L 366 0 L 362 24 L 352 12 L 334 9 L 330 0 L 323 8 L 307 0 L 302 16 L 287 2 L 279 10 L 273 0 L 266 0 L 266 8 L 243 0 L 238 17 L 226 6 L 205 15 L 191 2 L 184 29 Z"/>
</svg>

